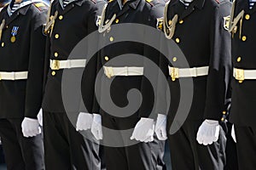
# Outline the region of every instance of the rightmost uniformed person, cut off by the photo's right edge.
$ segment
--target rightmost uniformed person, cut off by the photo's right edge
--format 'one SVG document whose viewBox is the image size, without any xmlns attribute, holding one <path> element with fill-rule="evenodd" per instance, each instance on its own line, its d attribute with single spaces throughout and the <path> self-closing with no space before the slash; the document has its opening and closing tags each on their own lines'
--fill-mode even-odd
<svg viewBox="0 0 256 170">
<path fill-rule="evenodd" d="M 239 169 L 255 169 L 256 162 L 256 6 L 253 0 L 233 2 L 230 18 L 232 34 L 232 105 L 230 122 L 236 132 Z"/>
</svg>

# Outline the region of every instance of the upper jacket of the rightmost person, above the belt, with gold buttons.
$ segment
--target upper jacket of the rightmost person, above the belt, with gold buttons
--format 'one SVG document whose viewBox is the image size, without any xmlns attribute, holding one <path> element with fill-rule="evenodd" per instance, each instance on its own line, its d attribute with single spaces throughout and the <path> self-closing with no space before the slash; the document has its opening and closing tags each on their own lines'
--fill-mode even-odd
<svg viewBox="0 0 256 170">
<path fill-rule="evenodd" d="M 238 2 L 234 17 L 242 10 L 244 14 L 232 33 L 232 63 L 236 67 L 255 69 L 256 58 L 252 49 L 256 44 L 256 8 L 248 9 L 247 2 Z"/>
</svg>

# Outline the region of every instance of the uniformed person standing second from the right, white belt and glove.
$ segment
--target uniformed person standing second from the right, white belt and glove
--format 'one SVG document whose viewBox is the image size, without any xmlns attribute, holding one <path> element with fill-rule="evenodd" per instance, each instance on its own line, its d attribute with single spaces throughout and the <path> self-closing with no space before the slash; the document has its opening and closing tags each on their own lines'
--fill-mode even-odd
<svg viewBox="0 0 256 170">
<path fill-rule="evenodd" d="M 172 0 L 166 4 L 165 33 L 182 50 L 169 55 L 166 75 L 171 88 L 168 131 L 180 104 L 180 82 L 192 79 L 189 115 L 176 133 L 169 134 L 173 170 L 221 170 L 225 164 L 225 137 L 219 122 L 226 114 L 230 84 L 231 4 L 228 0 Z M 183 107 L 183 106 L 182 106 Z M 180 109 L 180 108 L 179 108 Z"/>
</svg>

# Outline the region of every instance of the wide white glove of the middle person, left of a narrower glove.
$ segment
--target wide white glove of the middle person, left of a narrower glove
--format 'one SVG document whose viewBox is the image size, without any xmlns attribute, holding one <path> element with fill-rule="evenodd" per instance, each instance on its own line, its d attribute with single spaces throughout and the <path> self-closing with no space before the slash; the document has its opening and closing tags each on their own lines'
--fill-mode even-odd
<svg viewBox="0 0 256 170">
<path fill-rule="evenodd" d="M 136 139 L 141 142 L 152 142 L 154 140 L 154 120 L 141 118 L 134 127 L 131 140 Z"/>
</svg>

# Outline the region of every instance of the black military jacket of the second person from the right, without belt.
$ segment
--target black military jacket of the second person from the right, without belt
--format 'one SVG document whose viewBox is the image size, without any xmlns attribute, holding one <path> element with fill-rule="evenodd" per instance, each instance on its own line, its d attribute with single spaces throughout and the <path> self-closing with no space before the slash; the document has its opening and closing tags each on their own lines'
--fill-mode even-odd
<svg viewBox="0 0 256 170">
<path fill-rule="evenodd" d="M 187 120 L 220 120 L 229 99 L 230 86 L 230 33 L 227 25 L 230 2 L 217 0 L 194 0 L 185 9 L 183 3 L 172 0 L 167 8 L 167 21 L 177 14 L 177 24 L 172 41 L 182 50 L 190 68 L 209 66 L 207 76 L 192 77 L 192 104 Z M 170 66 L 188 68 L 182 56 L 169 54 Z M 166 71 L 168 72 L 168 71 Z M 169 73 L 169 72 L 168 72 Z M 184 108 L 189 103 L 180 102 L 179 80 L 172 82 L 170 75 L 171 120 L 178 105 Z M 189 97 L 188 97 L 189 98 Z"/>
</svg>

